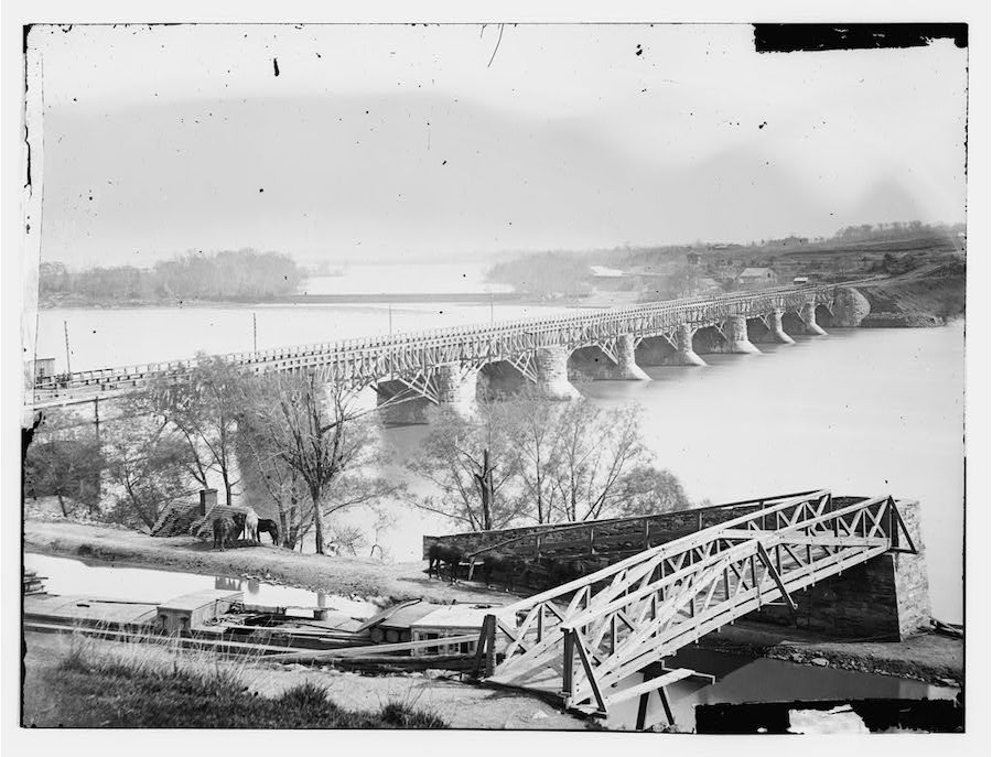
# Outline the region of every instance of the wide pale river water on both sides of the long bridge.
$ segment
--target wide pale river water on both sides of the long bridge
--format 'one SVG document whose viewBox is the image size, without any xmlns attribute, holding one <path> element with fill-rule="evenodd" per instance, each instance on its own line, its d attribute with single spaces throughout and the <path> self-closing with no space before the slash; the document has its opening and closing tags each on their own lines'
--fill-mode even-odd
<svg viewBox="0 0 992 757">
<path fill-rule="evenodd" d="M 391 270 L 391 269 L 390 269 Z M 483 291 L 479 269 L 464 289 Z M 326 285 L 344 291 L 344 277 Z M 369 273 L 363 269 L 363 280 Z M 396 272 L 382 280 L 397 281 Z M 390 284 L 393 290 L 399 286 Z M 455 291 L 453 284 L 445 291 Z M 330 291 L 328 289 L 328 291 Z M 433 291 L 420 281 L 416 291 Z M 353 290 L 357 291 L 357 290 Z M 388 291 L 384 288 L 382 291 Z M 405 304 L 62 309 L 39 316 L 37 354 L 73 369 L 128 365 L 359 335 L 486 323 L 548 312 L 519 304 Z M 935 616 L 962 617 L 963 323 L 930 329 L 832 329 L 762 355 L 708 355 L 707 368 L 648 367 L 651 381 L 596 381 L 581 391 L 606 405 L 637 402 L 645 439 L 693 500 L 713 504 L 811 488 L 918 499 Z M 64 357 L 60 358 L 64 366 Z M 61 368 L 61 366 L 60 366 Z M 393 458 L 424 426 L 391 429 Z M 382 538 L 393 559 L 420 558 L 436 518 L 402 509 Z"/>
</svg>

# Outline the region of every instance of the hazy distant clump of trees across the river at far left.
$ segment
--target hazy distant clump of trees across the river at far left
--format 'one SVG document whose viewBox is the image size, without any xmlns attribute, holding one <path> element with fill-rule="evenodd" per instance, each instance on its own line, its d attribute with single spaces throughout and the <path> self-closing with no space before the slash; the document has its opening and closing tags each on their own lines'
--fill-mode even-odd
<svg viewBox="0 0 992 757">
<path fill-rule="evenodd" d="M 265 300 L 296 290 L 304 274 L 287 255 L 252 249 L 205 255 L 187 252 L 160 260 L 151 269 L 133 266 L 95 267 L 72 271 L 61 262 L 39 267 L 43 303 L 66 299 Z"/>
</svg>

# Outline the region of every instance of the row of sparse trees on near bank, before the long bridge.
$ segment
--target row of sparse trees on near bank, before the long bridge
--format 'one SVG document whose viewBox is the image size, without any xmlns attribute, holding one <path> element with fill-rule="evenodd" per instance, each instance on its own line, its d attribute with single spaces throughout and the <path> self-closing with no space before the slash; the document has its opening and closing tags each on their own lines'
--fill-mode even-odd
<svg viewBox="0 0 992 757">
<path fill-rule="evenodd" d="M 431 485 L 420 498 L 388 473 L 378 413 L 312 374 L 249 376 L 201 356 L 181 381 L 160 379 L 121 402 L 122 420 L 104 423 L 99 440 L 69 412 L 47 417 L 28 452 L 28 494 L 56 498 L 66 517 L 83 508 L 154 531 L 170 511 L 198 515 L 197 491 L 216 487 L 228 506 L 278 513 L 283 547 L 312 534 L 322 554 L 364 539 L 347 513 L 375 513 L 378 541 L 403 502 L 463 530 L 690 506 L 645 446 L 639 411 L 589 399 L 524 391 L 481 400 L 473 413 L 438 408 L 405 462 Z"/>
</svg>

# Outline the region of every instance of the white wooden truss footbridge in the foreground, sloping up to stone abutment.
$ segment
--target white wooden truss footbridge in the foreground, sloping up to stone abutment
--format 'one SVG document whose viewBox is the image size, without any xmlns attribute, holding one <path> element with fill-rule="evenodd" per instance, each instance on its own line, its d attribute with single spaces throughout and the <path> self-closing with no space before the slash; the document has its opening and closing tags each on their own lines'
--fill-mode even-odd
<svg viewBox="0 0 992 757">
<path fill-rule="evenodd" d="M 637 696 L 643 713 L 657 691 L 670 712 L 665 686 L 711 677 L 665 658 L 763 606 L 795 610 L 797 592 L 873 558 L 916 553 L 889 496 L 820 490 L 748 509 L 487 616 L 487 680 L 600 716 Z"/>
</svg>

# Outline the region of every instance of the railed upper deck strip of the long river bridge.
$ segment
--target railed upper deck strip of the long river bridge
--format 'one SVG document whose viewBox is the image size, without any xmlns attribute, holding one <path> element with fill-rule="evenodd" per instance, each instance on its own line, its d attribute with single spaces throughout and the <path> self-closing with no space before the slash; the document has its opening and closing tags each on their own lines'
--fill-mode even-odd
<svg viewBox="0 0 992 757">
<path fill-rule="evenodd" d="M 400 333 L 392 336 L 356 337 L 333 343 L 317 343 L 295 347 L 274 348 L 259 352 L 240 352 L 220 355 L 222 359 L 235 365 L 263 369 L 280 361 L 296 361 L 301 366 L 326 364 L 331 358 L 342 361 L 371 357 L 388 350 L 390 355 L 409 353 L 413 349 L 470 348 L 474 343 L 488 339 L 498 346 L 507 338 L 519 339 L 527 335 L 530 346 L 554 346 L 564 329 L 585 329 L 603 336 L 603 329 L 614 328 L 615 335 L 630 333 L 629 329 L 664 328 L 675 326 L 676 321 L 702 323 L 716 317 L 747 314 L 755 309 L 799 306 L 805 302 L 829 302 L 830 293 L 837 284 L 778 286 L 752 292 L 734 292 L 710 296 L 684 298 L 657 303 L 629 305 L 601 312 L 583 311 L 571 315 L 505 321 L 498 324 L 456 326 L 421 332 Z M 676 317 L 681 316 L 681 317 Z M 632 323 L 632 320 L 634 323 Z M 608 335 L 608 334 L 607 334 Z M 592 334 L 591 334 L 592 337 Z M 41 377 L 35 380 L 37 391 L 57 391 L 87 388 L 128 381 L 144 381 L 152 376 L 181 376 L 197 365 L 196 358 L 150 363 L 118 368 L 103 368 L 76 371 L 68 375 Z"/>
</svg>

